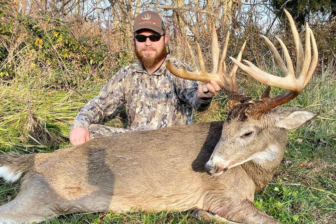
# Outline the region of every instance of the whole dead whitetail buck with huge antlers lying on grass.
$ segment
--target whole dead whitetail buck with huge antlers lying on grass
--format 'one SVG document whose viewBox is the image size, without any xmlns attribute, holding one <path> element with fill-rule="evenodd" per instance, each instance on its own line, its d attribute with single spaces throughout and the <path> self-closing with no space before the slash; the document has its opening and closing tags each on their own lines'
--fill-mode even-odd
<svg viewBox="0 0 336 224">
<path fill-rule="evenodd" d="M 168 69 L 183 78 L 216 80 L 229 94 L 224 122 L 206 122 L 153 131 L 92 139 L 53 153 L 0 156 L 0 175 L 9 182 L 21 176 L 20 192 L 0 207 L 2 223 L 31 223 L 61 214 L 112 210 L 124 212 L 197 210 L 205 219 L 229 223 L 279 223 L 253 205 L 254 193 L 272 178 L 286 148 L 287 130 L 314 114 L 276 108 L 307 85 L 317 65 L 318 51 L 306 25 L 305 51 L 290 14 L 297 50 L 296 70 L 285 45 L 287 67 L 266 38 L 286 77 L 267 74 L 250 62 L 237 66 L 267 85 L 288 90 L 274 98 L 266 94 L 250 101 L 224 64 L 227 41 L 219 59 L 213 29 L 213 72 L 207 74 L 198 47 L 199 72 Z M 311 50 L 311 45 L 313 50 Z M 313 52 L 313 55 L 311 55 Z M 196 60 L 195 60 L 196 61 Z M 219 63 L 218 63 L 219 61 Z M 228 221 L 229 220 L 229 221 Z"/>
</svg>

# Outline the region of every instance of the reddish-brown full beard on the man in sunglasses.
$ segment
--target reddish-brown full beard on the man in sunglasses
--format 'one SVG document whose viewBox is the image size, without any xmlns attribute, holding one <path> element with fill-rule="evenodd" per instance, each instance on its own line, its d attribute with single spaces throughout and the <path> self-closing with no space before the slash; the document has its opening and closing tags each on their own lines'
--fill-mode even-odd
<svg viewBox="0 0 336 224">
<path fill-rule="evenodd" d="M 135 47 L 135 54 L 137 58 L 139 59 L 139 61 L 141 62 L 141 64 L 144 66 L 144 68 L 148 68 L 148 69 L 155 68 L 158 65 L 158 63 L 164 60 L 167 56 L 167 46 L 166 45 L 164 48 L 162 48 L 161 51 L 157 51 L 156 49 L 153 49 L 151 47 L 143 47 L 141 49 L 137 49 L 137 47 L 135 46 L 135 43 L 134 43 L 134 47 Z M 157 55 L 154 57 L 145 56 L 144 50 L 147 48 L 154 50 L 157 53 Z"/>
</svg>

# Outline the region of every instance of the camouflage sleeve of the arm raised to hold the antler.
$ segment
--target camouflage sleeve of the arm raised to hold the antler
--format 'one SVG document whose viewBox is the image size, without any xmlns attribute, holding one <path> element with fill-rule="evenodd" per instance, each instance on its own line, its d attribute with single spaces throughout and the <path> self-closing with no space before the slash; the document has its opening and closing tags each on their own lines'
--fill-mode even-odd
<svg viewBox="0 0 336 224">
<path fill-rule="evenodd" d="M 192 72 L 192 69 L 181 61 L 175 62 L 174 66 L 181 69 L 182 64 L 186 67 L 187 71 Z M 197 88 L 198 85 L 200 85 L 199 82 L 182 79 L 176 76 L 174 76 L 174 79 L 176 92 L 180 100 L 189 103 L 194 110 L 199 112 L 205 111 L 210 107 L 212 98 L 205 100 L 197 98 Z"/>
</svg>

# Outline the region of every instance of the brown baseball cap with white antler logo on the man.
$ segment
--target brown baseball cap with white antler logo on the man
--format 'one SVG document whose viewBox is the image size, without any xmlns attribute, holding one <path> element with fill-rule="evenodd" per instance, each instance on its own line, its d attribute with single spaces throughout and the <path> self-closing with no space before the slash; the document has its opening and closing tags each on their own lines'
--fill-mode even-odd
<svg viewBox="0 0 336 224">
<path fill-rule="evenodd" d="M 154 11 L 144 11 L 137 15 L 134 20 L 134 33 L 140 29 L 151 29 L 163 33 L 163 23 L 160 15 Z"/>
</svg>

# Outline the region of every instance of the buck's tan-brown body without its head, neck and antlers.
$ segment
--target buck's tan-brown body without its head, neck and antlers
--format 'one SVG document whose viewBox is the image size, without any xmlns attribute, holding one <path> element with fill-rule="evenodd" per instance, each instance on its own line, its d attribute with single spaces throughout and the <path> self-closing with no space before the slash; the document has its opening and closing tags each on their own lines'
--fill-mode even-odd
<svg viewBox="0 0 336 224">
<path fill-rule="evenodd" d="M 228 207 L 244 199 L 253 201 L 256 185 L 242 166 L 220 176 L 205 173 L 222 124 L 133 132 L 53 153 L 25 155 L 30 167 L 20 193 L 0 207 L 0 220 L 42 221 L 60 214 L 108 209 L 211 210 L 226 201 Z M 34 211 L 31 218 L 27 208 Z"/>
</svg>

